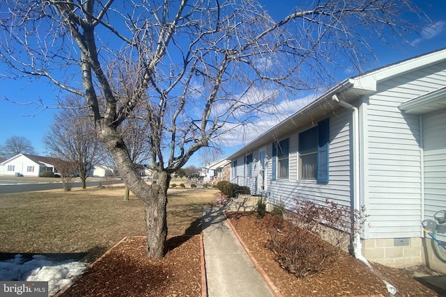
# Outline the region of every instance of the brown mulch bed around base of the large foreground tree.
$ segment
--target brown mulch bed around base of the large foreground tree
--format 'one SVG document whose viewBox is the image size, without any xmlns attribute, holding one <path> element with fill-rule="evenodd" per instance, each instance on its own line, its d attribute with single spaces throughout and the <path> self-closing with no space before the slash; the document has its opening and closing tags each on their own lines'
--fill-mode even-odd
<svg viewBox="0 0 446 297">
<path fill-rule="evenodd" d="M 162 260 L 151 260 L 145 237 L 126 238 L 61 296 L 201 296 L 200 245 L 201 236 L 176 236 Z"/>
</svg>

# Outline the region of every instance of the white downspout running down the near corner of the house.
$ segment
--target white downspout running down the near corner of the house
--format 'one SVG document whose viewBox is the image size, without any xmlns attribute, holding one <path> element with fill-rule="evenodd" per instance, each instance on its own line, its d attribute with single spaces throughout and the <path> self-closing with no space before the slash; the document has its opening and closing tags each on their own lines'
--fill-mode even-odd
<svg viewBox="0 0 446 297">
<path fill-rule="evenodd" d="M 360 116 L 359 116 L 359 110 L 356 106 L 353 106 L 352 104 L 341 101 L 337 97 L 336 94 L 332 96 L 332 99 L 334 102 L 337 102 L 340 106 L 350 109 L 352 111 L 353 116 L 353 123 L 352 123 L 352 138 L 353 138 L 353 209 L 355 213 L 359 213 L 360 211 L 360 135 L 359 135 L 359 127 L 360 127 Z M 355 216 L 353 216 L 353 219 Z M 353 225 L 356 228 L 359 228 L 358 222 L 353 222 Z M 361 243 L 361 233 L 360 230 L 355 230 L 355 234 L 353 236 L 353 254 L 355 255 L 356 259 L 359 259 L 360 261 L 364 262 L 371 271 L 374 271 L 374 268 L 371 267 L 370 263 L 367 261 L 367 259 L 362 255 L 361 252 L 362 243 Z M 397 294 L 397 289 L 392 286 L 392 284 L 389 284 L 385 280 L 383 280 L 385 287 L 387 287 L 387 291 L 389 291 L 390 294 L 394 295 Z"/>
</svg>

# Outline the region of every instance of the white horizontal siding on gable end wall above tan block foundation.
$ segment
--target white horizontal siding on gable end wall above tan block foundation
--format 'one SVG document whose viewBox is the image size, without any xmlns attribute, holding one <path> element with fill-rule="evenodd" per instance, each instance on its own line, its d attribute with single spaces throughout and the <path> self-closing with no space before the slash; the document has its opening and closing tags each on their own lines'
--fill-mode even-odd
<svg viewBox="0 0 446 297">
<path fill-rule="evenodd" d="M 369 238 L 420 236 L 422 180 L 419 115 L 398 106 L 446 84 L 446 63 L 378 83 L 367 106 Z"/>
</svg>

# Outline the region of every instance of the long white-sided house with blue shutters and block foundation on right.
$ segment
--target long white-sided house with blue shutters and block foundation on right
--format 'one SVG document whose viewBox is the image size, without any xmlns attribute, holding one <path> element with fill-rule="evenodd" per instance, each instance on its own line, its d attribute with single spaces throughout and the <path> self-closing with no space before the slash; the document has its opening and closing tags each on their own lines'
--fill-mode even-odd
<svg viewBox="0 0 446 297">
<path fill-rule="evenodd" d="M 446 273 L 421 225 L 446 209 L 446 49 L 346 79 L 228 159 L 271 204 L 365 206 L 367 259 Z"/>
</svg>

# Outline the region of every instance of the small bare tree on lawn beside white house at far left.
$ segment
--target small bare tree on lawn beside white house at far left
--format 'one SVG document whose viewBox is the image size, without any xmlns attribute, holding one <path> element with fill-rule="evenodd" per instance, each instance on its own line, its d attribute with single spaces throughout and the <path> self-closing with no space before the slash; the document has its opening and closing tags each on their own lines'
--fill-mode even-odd
<svg viewBox="0 0 446 297">
<path fill-rule="evenodd" d="M 69 163 L 70 170 L 75 168 L 70 177 L 77 173 L 82 188 L 86 188 L 86 179 L 97 165 L 101 144 L 88 109 L 82 107 L 82 97 L 68 96 L 61 105 L 64 108 L 54 113 L 43 143 L 53 156 Z"/>
</svg>

